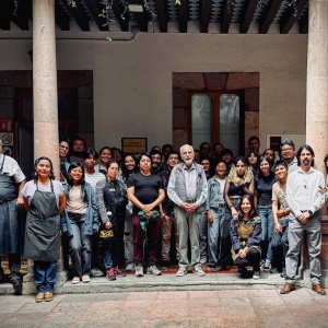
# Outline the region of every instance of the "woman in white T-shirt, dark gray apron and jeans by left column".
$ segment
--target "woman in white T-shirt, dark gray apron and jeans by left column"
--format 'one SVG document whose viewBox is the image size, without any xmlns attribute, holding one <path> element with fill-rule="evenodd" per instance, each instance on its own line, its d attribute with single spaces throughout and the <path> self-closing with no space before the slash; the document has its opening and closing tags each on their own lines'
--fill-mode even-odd
<svg viewBox="0 0 328 328">
<path fill-rule="evenodd" d="M 56 261 L 60 258 L 60 212 L 66 196 L 60 181 L 55 180 L 52 163 L 39 157 L 34 163 L 34 180 L 23 190 L 27 211 L 24 257 L 34 260 L 36 302 L 52 301 L 56 283 Z"/>
</svg>

